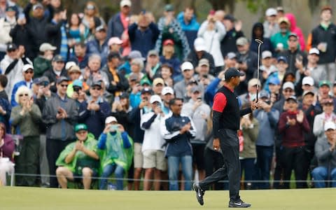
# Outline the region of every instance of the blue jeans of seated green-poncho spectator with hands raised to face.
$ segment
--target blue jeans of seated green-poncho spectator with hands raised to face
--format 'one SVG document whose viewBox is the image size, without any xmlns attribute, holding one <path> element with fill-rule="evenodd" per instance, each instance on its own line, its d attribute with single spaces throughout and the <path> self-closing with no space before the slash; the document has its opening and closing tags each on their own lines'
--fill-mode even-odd
<svg viewBox="0 0 336 210">
<path fill-rule="evenodd" d="M 106 190 L 106 184 L 107 184 L 107 179 L 111 174 L 115 174 L 116 179 L 117 179 L 117 190 L 123 190 L 123 177 L 124 177 L 124 168 L 121 167 L 120 165 L 116 164 L 109 164 L 106 165 L 103 169 L 102 176 L 100 176 L 102 179 L 100 180 L 100 186 L 99 190 Z"/>
</svg>

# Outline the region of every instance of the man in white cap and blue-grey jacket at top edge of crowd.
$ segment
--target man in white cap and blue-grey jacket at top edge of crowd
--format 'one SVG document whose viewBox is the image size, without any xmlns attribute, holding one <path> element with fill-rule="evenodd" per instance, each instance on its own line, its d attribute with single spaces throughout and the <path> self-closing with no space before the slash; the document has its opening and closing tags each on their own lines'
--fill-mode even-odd
<svg viewBox="0 0 336 210">
<path fill-rule="evenodd" d="M 122 34 L 128 29 L 132 2 L 130 0 L 120 1 L 120 12 L 113 15 L 107 24 L 107 38 L 113 36 L 122 38 Z M 126 34 L 125 34 L 126 35 Z"/>
</svg>

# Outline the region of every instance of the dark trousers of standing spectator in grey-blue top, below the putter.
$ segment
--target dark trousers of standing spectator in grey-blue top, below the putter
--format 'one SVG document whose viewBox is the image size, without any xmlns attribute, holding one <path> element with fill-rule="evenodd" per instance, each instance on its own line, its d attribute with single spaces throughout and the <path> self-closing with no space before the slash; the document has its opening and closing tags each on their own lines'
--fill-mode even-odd
<svg viewBox="0 0 336 210">
<path fill-rule="evenodd" d="M 271 171 L 274 146 L 256 146 L 257 149 L 257 174 L 259 189 L 269 189 L 269 172 Z"/>
</svg>

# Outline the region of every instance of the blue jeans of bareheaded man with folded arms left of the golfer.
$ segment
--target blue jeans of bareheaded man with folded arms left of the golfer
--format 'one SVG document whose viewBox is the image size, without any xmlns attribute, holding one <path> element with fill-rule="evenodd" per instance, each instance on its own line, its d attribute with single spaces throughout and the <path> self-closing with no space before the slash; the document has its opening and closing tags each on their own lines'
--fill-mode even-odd
<svg viewBox="0 0 336 210">
<path fill-rule="evenodd" d="M 169 190 L 179 190 L 178 180 L 180 162 L 185 180 L 184 190 L 191 190 L 191 180 L 193 179 L 193 157 L 190 155 L 182 157 L 168 157 Z"/>
</svg>

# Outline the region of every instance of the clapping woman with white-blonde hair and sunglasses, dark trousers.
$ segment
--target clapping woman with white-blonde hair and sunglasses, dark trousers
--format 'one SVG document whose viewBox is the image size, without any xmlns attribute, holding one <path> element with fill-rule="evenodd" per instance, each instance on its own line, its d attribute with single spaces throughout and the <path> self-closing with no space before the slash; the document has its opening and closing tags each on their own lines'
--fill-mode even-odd
<svg viewBox="0 0 336 210">
<path fill-rule="evenodd" d="M 15 158 L 15 173 L 27 174 L 15 177 L 17 186 L 36 186 L 38 174 L 38 153 L 40 149 L 41 111 L 32 98 L 29 87 L 22 85 L 15 93 L 15 106 L 10 113 L 10 122 L 15 128 L 15 134 L 21 134 L 20 155 Z"/>
</svg>

